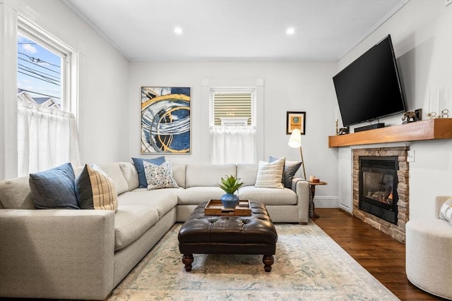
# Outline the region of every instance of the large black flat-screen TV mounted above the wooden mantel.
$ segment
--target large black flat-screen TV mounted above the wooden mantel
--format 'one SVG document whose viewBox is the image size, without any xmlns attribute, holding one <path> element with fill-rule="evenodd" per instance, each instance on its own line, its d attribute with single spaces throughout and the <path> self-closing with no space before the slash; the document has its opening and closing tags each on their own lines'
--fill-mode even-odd
<svg viewBox="0 0 452 301">
<path fill-rule="evenodd" d="M 333 77 L 343 125 L 406 111 L 391 35 Z"/>
</svg>

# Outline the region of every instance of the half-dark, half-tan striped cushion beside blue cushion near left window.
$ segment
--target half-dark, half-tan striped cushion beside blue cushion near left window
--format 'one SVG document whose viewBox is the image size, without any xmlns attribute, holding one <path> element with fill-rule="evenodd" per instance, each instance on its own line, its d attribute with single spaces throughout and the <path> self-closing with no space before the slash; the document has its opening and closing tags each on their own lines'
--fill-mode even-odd
<svg viewBox="0 0 452 301">
<path fill-rule="evenodd" d="M 118 208 L 118 195 L 114 183 L 97 166 L 85 164 L 76 178 L 76 195 L 81 209 L 113 210 Z"/>
</svg>

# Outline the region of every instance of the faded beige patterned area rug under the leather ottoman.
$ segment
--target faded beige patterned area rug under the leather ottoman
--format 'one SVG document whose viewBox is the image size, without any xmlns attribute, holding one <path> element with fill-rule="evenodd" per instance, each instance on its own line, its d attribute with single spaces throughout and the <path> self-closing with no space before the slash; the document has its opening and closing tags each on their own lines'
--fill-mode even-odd
<svg viewBox="0 0 452 301">
<path fill-rule="evenodd" d="M 176 224 L 109 300 L 398 300 L 315 223 L 277 224 L 270 273 L 261 255 L 194 254 L 186 272 Z"/>
</svg>

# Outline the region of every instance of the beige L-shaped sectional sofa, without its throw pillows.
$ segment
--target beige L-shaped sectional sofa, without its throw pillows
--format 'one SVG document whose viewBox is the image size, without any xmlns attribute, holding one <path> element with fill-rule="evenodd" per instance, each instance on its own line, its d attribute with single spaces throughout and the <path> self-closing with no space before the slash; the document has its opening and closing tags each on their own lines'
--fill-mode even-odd
<svg viewBox="0 0 452 301">
<path fill-rule="evenodd" d="M 28 177 L 0 182 L 0 297 L 105 299 L 174 223 L 220 198 L 225 175 L 241 178 L 240 198 L 266 204 L 274 222 L 309 220 L 307 181 L 256 188 L 258 164 L 172 164 L 179 188 L 159 190 L 138 188 L 131 163 L 99 166 L 117 190 L 116 213 L 35 209 Z"/>
</svg>

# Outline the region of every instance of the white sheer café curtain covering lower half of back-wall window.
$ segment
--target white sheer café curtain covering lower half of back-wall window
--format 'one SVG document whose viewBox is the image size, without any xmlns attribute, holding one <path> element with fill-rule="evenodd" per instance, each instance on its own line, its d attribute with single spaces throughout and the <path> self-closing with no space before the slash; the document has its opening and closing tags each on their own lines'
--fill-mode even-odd
<svg viewBox="0 0 452 301">
<path fill-rule="evenodd" d="M 254 126 L 210 126 L 210 162 L 255 163 L 255 140 Z"/>
</svg>

